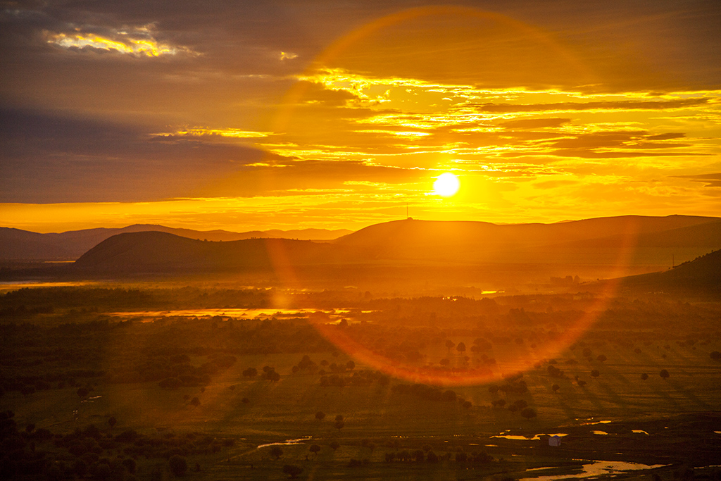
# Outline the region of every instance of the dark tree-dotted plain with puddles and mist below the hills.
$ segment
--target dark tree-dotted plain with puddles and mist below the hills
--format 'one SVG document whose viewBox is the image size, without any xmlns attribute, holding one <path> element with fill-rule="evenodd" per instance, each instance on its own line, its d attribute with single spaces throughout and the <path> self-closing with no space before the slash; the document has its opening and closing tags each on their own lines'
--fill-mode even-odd
<svg viewBox="0 0 721 481">
<path fill-rule="evenodd" d="M 257 305 L 236 317 L 199 301 L 159 316 L 177 295 L 162 290 L 4 296 L 6 436 L 67 479 L 78 459 L 92 477 L 99 464 L 131 476 L 133 459 L 132 476 L 166 479 L 173 456 L 198 480 L 286 479 L 286 465 L 314 480 L 718 476 L 718 304 L 337 293 L 328 309 L 327 293 L 288 293 L 297 310 L 268 317 L 241 294 Z M 123 314 L 128 296 L 140 300 Z M 582 309 L 600 309 L 593 329 L 564 341 Z"/>
</svg>

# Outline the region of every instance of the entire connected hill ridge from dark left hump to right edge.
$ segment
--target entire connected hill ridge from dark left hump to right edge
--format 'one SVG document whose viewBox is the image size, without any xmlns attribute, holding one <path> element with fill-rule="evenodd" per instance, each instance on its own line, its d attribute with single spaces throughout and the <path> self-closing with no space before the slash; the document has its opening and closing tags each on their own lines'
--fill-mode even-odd
<svg viewBox="0 0 721 481">
<path fill-rule="evenodd" d="M 721 249 L 721 219 L 624 216 L 560 224 L 404 220 L 329 243 L 288 239 L 204 242 L 168 232 L 126 232 L 82 255 L 74 268 L 123 273 L 273 270 L 322 266 L 349 284 L 407 276 L 467 285 L 658 271 Z M 330 269 L 330 270 L 329 270 Z M 411 274 L 412 272 L 412 274 Z M 394 281 L 397 280 L 397 281 Z M 461 281 L 462 279 L 462 281 Z"/>
</svg>

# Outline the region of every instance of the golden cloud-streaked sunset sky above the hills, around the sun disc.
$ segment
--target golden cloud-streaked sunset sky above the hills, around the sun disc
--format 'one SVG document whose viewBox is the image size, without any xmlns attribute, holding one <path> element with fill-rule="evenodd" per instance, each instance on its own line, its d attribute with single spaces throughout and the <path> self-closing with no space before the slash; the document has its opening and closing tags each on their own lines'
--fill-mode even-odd
<svg viewBox="0 0 721 481">
<path fill-rule="evenodd" d="M 717 2 L 462 3 L 2 2 L 0 226 L 721 212 Z"/>
</svg>

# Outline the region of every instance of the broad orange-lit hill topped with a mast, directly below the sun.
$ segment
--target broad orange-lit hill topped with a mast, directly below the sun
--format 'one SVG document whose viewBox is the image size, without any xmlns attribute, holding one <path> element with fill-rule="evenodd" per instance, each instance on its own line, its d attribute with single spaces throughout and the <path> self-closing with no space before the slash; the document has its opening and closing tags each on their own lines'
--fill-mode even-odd
<svg viewBox="0 0 721 481">
<path fill-rule="evenodd" d="M 721 248 L 721 219 L 621 216 L 557 224 L 404 220 L 336 239 L 375 260 L 671 266 Z"/>
</svg>

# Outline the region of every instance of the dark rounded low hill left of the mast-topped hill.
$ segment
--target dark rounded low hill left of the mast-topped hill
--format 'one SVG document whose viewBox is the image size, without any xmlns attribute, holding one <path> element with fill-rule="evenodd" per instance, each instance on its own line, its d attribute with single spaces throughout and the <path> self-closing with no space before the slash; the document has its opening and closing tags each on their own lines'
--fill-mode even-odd
<svg viewBox="0 0 721 481">
<path fill-rule="evenodd" d="M 332 261 L 339 249 L 331 244 L 290 239 L 244 239 L 212 242 L 167 232 L 117 234 L 97 244 L 74 262 L 92 273 L 193 273 L 278 270 L 286 265 L 318 265 Z"/>
</svg>

